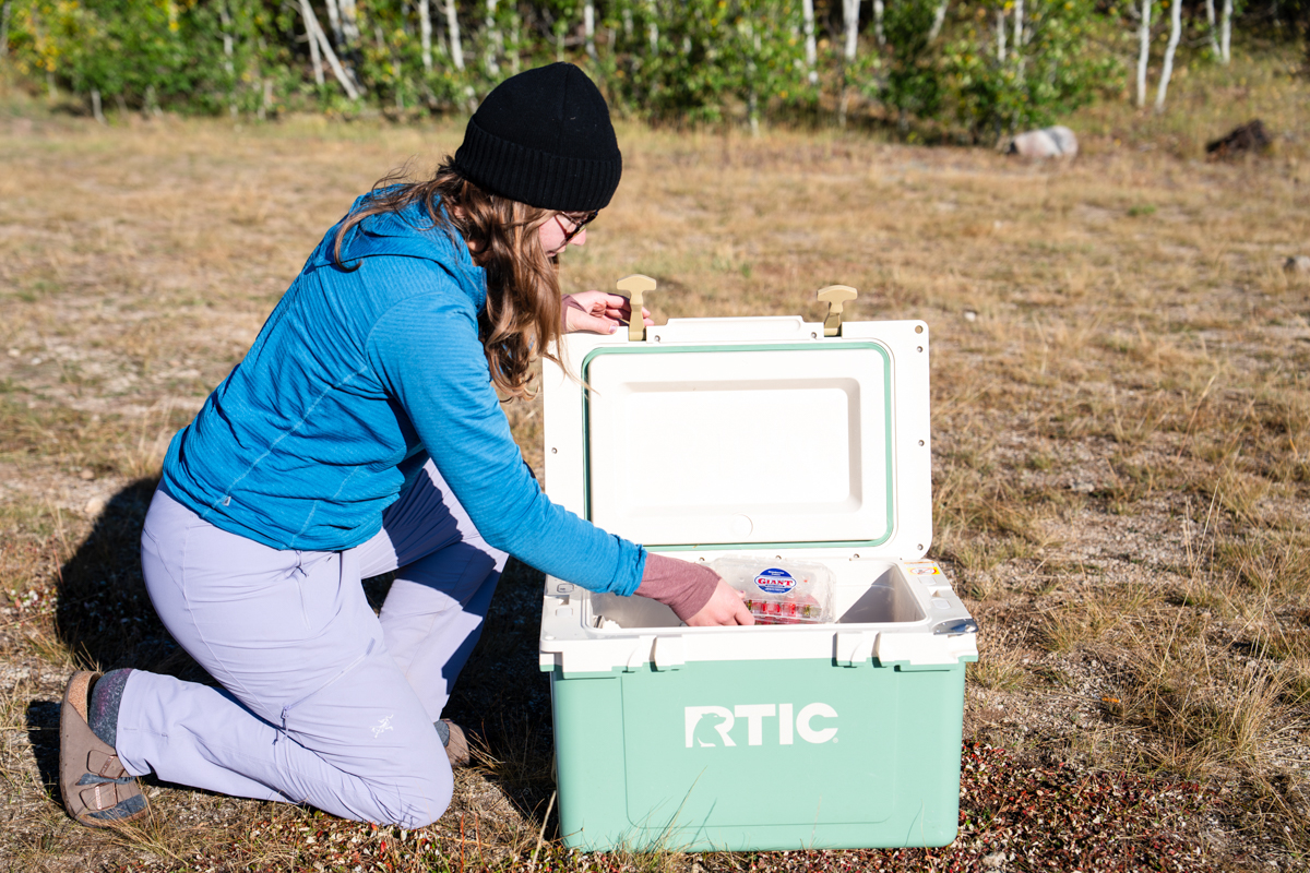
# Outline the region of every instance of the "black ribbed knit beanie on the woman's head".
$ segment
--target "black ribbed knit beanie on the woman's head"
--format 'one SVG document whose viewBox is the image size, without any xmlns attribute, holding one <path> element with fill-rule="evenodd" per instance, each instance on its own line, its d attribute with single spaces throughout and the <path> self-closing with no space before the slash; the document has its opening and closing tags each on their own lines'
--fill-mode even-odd
<svg viewBox="0 0 1310 873">
<path fill-rule="evenodd" d="M 624 171 L 609 107 L 572 64 L 511 76 L 469 119 L 455 169 L 474 185 L 542 209 L 609 205 Z"/>
</svg>

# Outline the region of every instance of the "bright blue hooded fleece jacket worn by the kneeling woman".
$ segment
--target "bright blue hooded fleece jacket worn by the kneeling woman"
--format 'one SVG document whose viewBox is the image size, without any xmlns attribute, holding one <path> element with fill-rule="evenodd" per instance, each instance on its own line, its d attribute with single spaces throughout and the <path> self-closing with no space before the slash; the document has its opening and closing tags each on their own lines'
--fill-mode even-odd
<svg viewBox="0 0 1310 873">
<path fill-rule="evenodd" d="M 464 241 L 419 205 L 356 225 L 342 246 L 354 271 L 337 266 L 335 237 L 173 437 L 165 490 L 266 546 L 337 551 L 381 529 L 431 454 L 489 543 L 633 593 L 645 550 L 550 503 L 523 463 L 478 339 L 486 276 Z"/>
</svg>

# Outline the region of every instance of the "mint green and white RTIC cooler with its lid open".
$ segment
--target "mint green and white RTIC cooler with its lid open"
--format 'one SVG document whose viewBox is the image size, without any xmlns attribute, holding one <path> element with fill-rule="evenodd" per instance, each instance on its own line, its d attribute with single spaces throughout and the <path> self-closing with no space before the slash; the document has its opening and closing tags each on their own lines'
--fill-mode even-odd
<svg viewBox="0 0 1310 873">
<path fill-rule="evenodd" d="M 924 559 L 927 327 L 833 309 L 827 330 L 697 318 L 574 334 L 561 352 L 582 381 L 545 368 L 553 500 L 689 561 L 823 563 L 836 615 L 690 628 L 654 601 L 548 577 L 541 669 L 569 847 L 955 839 L 977 644 Z"/>
</svg>

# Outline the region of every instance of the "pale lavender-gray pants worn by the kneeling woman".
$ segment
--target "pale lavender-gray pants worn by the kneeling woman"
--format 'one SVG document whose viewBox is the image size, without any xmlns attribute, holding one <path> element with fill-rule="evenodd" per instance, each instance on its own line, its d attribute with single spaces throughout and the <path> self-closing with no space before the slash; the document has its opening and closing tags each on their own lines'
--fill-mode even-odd
<svg viewBox="0 0 1310 873">
<path fill-rule="evenodd" d="M 431 461 L 383 530 L 342 552 L 269 548 L 156 492 L 141 535 L 151 601 L 223 688 L 134 670 L 123 766 L 359 821 L 436 821 L 452 777 L 432 721 L 504 560 Z M 379 618 L 360 580 L 394 569 Z"/>
</svg>

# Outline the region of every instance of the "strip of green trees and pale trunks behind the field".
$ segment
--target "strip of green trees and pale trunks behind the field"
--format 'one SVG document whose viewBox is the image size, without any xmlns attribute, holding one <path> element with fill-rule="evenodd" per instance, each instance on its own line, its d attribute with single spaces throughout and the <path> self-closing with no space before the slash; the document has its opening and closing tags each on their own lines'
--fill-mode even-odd
<svg viewBox="0 0 1310 873">
<path fill-rule="evenodd" d="M 1294 43 L 1307 22 L 1310 0 L 3 0 L 0 63 L 101 122 L 414 120 L 567 59 L 646 120 L 990 144 L 1098 97 L 1161 110 L 1234 33 Z"/>
</svg>

